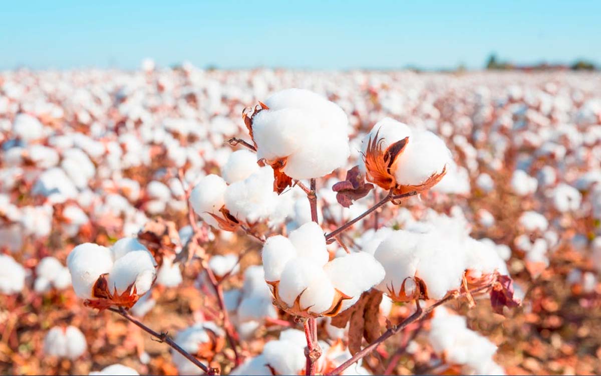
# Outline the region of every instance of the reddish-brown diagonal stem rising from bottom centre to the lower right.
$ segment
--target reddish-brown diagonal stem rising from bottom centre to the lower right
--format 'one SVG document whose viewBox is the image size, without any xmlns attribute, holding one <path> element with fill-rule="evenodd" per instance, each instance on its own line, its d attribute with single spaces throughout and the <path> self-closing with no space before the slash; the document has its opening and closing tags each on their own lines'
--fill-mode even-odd
<svg viewBox="0 0 601 376">
<path fill-rule="evenodd" d="M 441 306 L 442 304 L 445 304 L 450 300 L 454 300 L 459 297 L 462 297 L 463 295 L 466 295 L 468 293 L 474 294 L 475 292 L 492 288 L 492 286 L 493 286 L 493 284 L 490 283 L 489 285 L 481 286 L 480 288 L 476 288 L 476 289 L 473 289 L 472 291 L 468 291 L 468 292 L 463 292 L 462 294 L 459 294 L 459 293 L 449 294 L 449 295 L 447 295 L 447 297 L 444 297 L 441 300 L 436 301 L 436 303 L 432 304 L 432 306 L 427 307 L 426 309 L 421 309 L 421 308 L 419 308 L 419 305 L 418 305 L 418 310 L 416 310 L 416 312 L 413 313 L 413 315 L 404 319 L 403 322 L 401 322 L 400 324 L 393 326 L 391 328 L 388 328 L 388 330 L 386 330 L 384 332 L 384 334 L 382 334 L 378 339 L 376 339 L 376 341 L 371 342 L 371 344 L 362 348 L 361 351 L 358 351 L 355 355 L 353 355 L 353 357 L 351 357 L 346 362 L 342 363 L 340 366 L 338 366 L 336 369 L 334 369 L 334 371 L 330 372 L 328 375 L 340 375 L 341 372 L 343 372 L 345 369 L 349 368 L 351 365 L 353 365 L 353 363 L 358 362 L 359 360 L 363 359 L 365 356 L 370 354 L 372 351 L 376 350 L 376 348 L 380 344 L 382 344 L 382 342 L 386 341 L 386 339 L 393 336 L 394 334 L 397 334 L 399 331 L 406 328 L 407 325 L 411 324 L 412 322 L 423 319 L 430 312 L 432 312 L 436 307 Z"/>
</svg>

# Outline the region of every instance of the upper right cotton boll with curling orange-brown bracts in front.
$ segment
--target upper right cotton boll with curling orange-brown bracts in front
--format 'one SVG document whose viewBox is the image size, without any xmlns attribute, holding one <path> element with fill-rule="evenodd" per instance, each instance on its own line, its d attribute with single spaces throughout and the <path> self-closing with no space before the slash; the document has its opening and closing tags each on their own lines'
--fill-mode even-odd
<svg viewBox="0 0 601 376">
<path fill-rule="evenodd" d="M 385 190 L 431 188 L 453 167 L 451 152 L 441 138 L 390 118 L 377 122 L 365 135 L 362 155 L 367 180 Z M 457 170 L 453 173 L 458 174 Z M 458 177 L 451 176 L 453 179 Z"/>
</svg>

